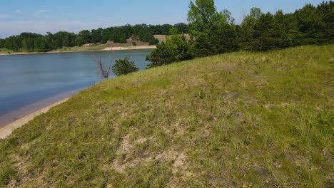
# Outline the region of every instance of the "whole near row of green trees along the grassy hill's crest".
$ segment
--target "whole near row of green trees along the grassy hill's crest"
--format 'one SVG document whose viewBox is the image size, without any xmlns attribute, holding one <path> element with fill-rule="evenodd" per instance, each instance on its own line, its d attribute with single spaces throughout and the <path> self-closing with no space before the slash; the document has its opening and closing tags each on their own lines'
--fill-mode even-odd
<svg viewBox="0 0 334 188">
<path fill-rule="evenodd" d="M 263 13 L 251 9 L 240 24 L 231 12 L 217 11 L 213 0 L 191 1 L 188 11 L 190 40 L 171 28 L 166 43 L 147 56 L 148 68 L 191 58 L 232 51 L 270 51 L 301 45 L 320 45 L 334 41 L 334 4 L 306 4 L 294 13 Z"/>
</svg>

